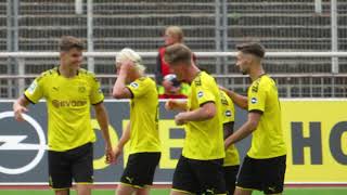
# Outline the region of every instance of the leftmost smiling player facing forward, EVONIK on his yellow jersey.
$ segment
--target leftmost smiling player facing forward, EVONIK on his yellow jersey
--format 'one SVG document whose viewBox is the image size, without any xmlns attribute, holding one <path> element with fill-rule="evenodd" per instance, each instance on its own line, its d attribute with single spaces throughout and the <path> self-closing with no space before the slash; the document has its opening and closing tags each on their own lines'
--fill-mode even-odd
<svg viewBox="0 0 347 195">
<path fill-rule="evenodd" d="M 60 66 L 37 77 L 13 105 L 15 118 L 21 121 L 29 103 L 36 104 L 41 98 L 47 101 L 49 181 L 56 195 L 68 195 L 73 179 L 78 195 L 91 194 L 95 134 L 90 105 L 105 139 L 107 162 L 114 158 L 104 96 L 95 76 L 80 68 L 82 50 L 79 39 L 62 37 Z"/>
</svg>

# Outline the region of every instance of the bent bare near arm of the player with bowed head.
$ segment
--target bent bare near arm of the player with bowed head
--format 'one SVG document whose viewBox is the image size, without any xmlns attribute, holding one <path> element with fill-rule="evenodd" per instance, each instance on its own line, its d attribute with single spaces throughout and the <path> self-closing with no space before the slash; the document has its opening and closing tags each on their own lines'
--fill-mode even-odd
<svg viewBox="0 0 347 195">
<path fill-rule="evenodd" d="M 201 121 L 201 120 L 208 120 L 214 118 L 217 113 L 217 108 L 214 102 L 208 102 L 202 105 L 200 108 L 179 113 L 175 116 L 175 121 L 177 125 L 183 125 L 187 121 Z"/>
</svg>

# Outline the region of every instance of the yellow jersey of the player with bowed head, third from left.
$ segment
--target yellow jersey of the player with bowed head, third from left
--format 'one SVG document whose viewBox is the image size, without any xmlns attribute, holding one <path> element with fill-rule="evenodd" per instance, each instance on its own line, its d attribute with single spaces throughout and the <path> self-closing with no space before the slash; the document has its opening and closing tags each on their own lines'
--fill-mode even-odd
<svg viewBox="0 0 347 195">
<path fill-rule="evenodd" d="M 192 81 L 188 98 L 189 110 L 200 108 L 203 104 L 213 102 L 217 114 L 208 120 L 188 121 L 185 123 L 185 140 L 182 155 L 187 158 L 209 160 L 226 156 L 222 132 L 220 92 L 216 80 L 201 72 Z"/>
</svg>

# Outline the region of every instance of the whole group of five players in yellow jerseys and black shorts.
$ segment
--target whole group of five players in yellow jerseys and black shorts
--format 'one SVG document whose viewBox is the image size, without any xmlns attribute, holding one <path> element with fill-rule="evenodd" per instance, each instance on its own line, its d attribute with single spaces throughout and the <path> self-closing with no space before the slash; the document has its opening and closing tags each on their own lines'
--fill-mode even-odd
<svg viewBox="0 0 347 195">
<path fill-rule="evenodd" d="M 13 104 L 15 118 L 23 120 L 29 103 L 47 100 L 50 185 L 56 195 L 67 195 L 74 180 L 78 195 L 91 194 L 95 141 L 90 121 L 92 105 L 105 139 L 106 161 L 117 161 L 125 144 L 129 144 L 130 155 L 117 194 L 149 195 L 160 159 L 158 93 L 155 81 L 145 75 L 141 56 L 131 49 L 124 49 L 116 56 L 113 96 L 130 100 L 130 121 L 112 148 L 100 82 L 92 73 L 80 68 L 81 41 L 63 37 L 60 47 L 60 65 L 36 78 Z M 247 96 L 218 87 L 210 75 L 197 67 L 187 46 L 174 43 L 165 48 L 163 61 L 170 74 L 191 86 L 185 101 L 168 100 L 165 104 L 166 109 L 179 112 L 175 116 L 176 125 L 185 128 L 171 195 L 250 195 L 254 190 L 281 194 L 283 191 L 286 146 L 278 89 L 261 65 L 265 49 L 254 42 L 236 49 L 236 66 L 252 79 Z M 246 122 L 236 131 L 233 131 L 233 103 L 248 110 Z M 249 134 L 252 147 L 237 176 L 240 160 L 233 144 Z"/>
</svg>

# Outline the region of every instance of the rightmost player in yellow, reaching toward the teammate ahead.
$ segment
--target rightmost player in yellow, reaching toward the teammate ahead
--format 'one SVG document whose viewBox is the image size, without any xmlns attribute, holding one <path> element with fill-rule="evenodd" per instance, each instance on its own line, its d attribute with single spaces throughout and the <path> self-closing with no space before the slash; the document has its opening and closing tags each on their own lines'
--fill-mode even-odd
<svg viewBox="0 0 347 195">
<path fill-rule="evenodd" d="M 226 90 L 232 101 L 248 109 L 247 121 L 226 140 L 226 147 L 252 134 L 252 146 L 239 173 L 235 195 L 249 195 L 254 190 L 265 194 L 283 191 L 286 145 L 281 126 L 281 106 L 275 82 L 265 74 L 261 61 L 265 49 L 249 42 L 236 47 L 236 66 L 249 75 L 247 96 Z"/>
</svg>

